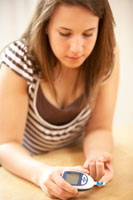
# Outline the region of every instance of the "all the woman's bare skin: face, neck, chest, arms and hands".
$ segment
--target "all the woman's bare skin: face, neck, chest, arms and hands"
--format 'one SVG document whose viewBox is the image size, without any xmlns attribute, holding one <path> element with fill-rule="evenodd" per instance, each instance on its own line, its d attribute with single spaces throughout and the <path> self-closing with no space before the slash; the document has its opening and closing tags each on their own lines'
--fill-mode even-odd
<svg viewBox="0 0 133 200">
<path fill-rule="evenodd" d="M 78 20 L 77 16 L 80 16 Z M 91 30 L 86 31 L 88 29 Z M 55 81 L 59 103 L 57 104 L 53 98 L 46 82 L 42 81 L 41 87 L 47 99 L 58 108 L 62 108 L 73 102 L 83 91 L 82 76 L 79 90 L 75 95 L 72 95 L 68 82 L 74 84 L 78 67 L 94 48 L 98 18 L 83 7 L 59 5 L 51 17 L 46 32 L 62 71 Z M 0 113 L 2 113 L 0 115 L 0 162 L 2 165 L 10 172 L 40 186 L 49 197 L 63 200 L 78 194 L 74 187 L 61 178 L 63 170 L 82 171 L 89 173 L 95 180 L 109 182 L 113 176 L 111 127 L 118 85 L 118 66 L 118 50 L 116 50 L 113 73 L 100 88 L 94 113 L 86 130 L 85 163 L 83 167 L 66 168 L 41 163 L 31 157 L 22 146 L 28 111 L 27 82 L 3 64 L 0 70 Z M 57 65 L 55 75 L 58 67 Z M 68 93 L 65 94 L 65 91 Z M 17 123 L 18 118 L 21 123 Z"/>
</svg>

